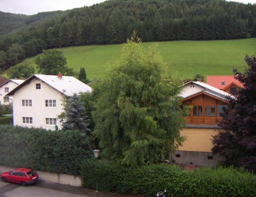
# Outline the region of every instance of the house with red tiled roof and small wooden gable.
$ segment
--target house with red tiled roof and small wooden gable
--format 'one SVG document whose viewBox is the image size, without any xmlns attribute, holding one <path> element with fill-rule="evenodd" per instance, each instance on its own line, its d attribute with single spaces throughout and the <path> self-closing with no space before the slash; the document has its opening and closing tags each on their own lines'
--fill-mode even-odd
<svg viewBox="0 0 256 197">
<path fill-rule="evenodd" d="M 244 87 L 243 84 L 235 78 L 233 75 L 218 75 L 218 76 L 207 76 L 207 84 L 221 89 L 224 92 L 232 92 L 239 87 Z"/>
</svg>

